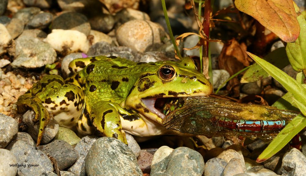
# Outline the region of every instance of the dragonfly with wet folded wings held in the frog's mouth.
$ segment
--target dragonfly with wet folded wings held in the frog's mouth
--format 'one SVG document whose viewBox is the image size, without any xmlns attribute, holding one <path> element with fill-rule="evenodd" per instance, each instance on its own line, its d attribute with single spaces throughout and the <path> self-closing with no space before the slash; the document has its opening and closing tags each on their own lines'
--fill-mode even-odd
<svg viewBox="0 0 306 176">
<path fill-rule="evenodd" d="M 300 112 L 211 97 L 178 98 L 167 104 L 163 126 L 205 136 L 244 136 L 271 141 Z"/>
</svg>

